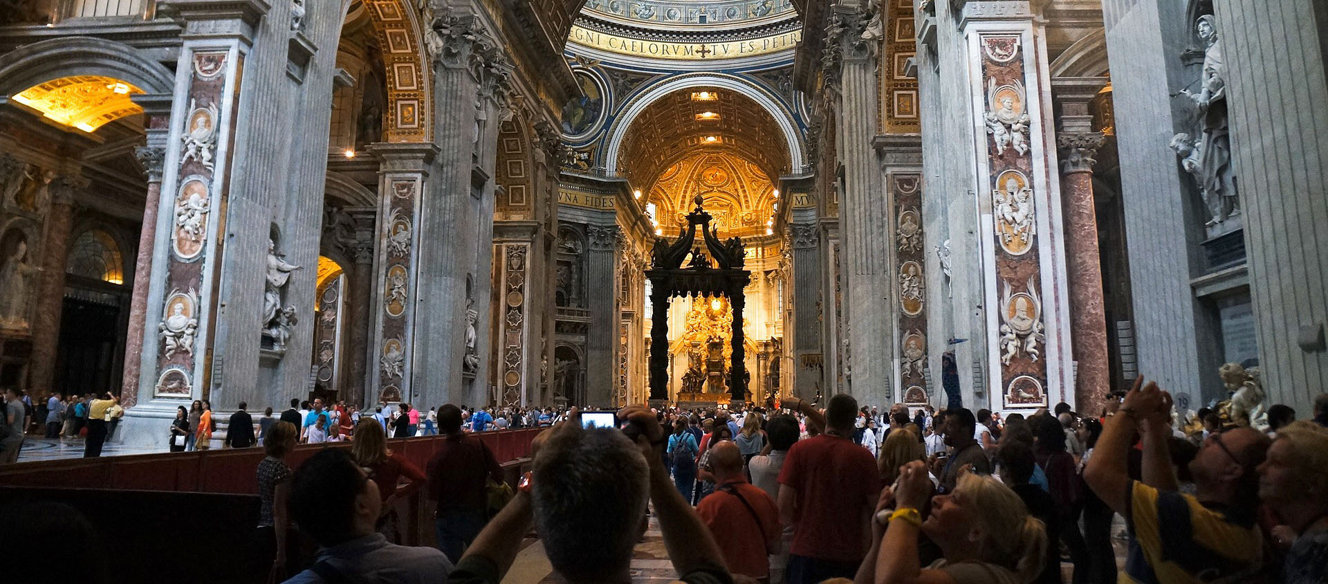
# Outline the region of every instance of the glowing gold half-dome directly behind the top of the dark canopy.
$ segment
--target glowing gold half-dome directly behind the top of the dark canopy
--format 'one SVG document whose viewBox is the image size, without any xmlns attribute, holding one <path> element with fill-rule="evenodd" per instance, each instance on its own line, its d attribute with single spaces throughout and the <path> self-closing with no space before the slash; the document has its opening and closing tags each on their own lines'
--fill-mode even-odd
<svg viewBox="0 0 1328 584">
<path fill-rule="evenodd" d="M 687 226 L 696 195 L 704 199 L 721 239 L 769 235 L 778 196 L 769 175 L 744 157 L 700 151 L 665 169 L 647 198 L 665 235 Z"/>
</svg>

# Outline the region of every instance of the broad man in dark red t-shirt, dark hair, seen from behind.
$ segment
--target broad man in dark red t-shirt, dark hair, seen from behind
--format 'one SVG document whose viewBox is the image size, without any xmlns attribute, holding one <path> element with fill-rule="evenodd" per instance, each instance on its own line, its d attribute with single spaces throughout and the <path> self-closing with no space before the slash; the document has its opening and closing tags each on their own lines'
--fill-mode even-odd
<svg viewBox="0 0 1328 584">
<path fill-rule="evenodd" d="M 826 433 L 794 443 L 780 470 L 780 519 L 793 524 L 789 584 L 853 579 L 871 544 L 880 475 L 853 441 L 857 414 L 853 396 L 830 398 Z"/>
</svg>

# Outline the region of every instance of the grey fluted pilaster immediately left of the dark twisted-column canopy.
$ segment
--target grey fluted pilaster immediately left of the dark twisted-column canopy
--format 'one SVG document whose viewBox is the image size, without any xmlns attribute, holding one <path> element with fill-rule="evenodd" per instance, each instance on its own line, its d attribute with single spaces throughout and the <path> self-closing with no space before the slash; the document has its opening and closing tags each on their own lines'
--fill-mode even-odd
<svg viewBox="0 0 1328 584">
<path fill-rule="evenodd" d="M 618 226 L 587 226 L 586 308 L 586 406 L 614 405 L 614 353 L 618 346 Z M 667 337 L 667 334 L 665 334 Z M 582 403 L 578 403 L 582 405 Z"/>
</svg>

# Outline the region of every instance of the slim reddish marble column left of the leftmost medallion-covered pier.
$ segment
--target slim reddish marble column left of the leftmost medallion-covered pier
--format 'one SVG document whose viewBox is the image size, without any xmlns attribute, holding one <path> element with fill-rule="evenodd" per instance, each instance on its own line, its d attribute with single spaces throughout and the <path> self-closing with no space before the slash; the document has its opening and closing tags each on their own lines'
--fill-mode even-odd
<svg viewBox="0 0 1328 584">
<path fill-rule="evenodd" d="M 147 330 L 147 289 L 151 285 L 153 248 L 157 243 L 157 207 L 161 204 L 166 149 L 141 146 L 134 150 L 134 155 L 142 165 L 143 174 L 147 175 L 147 198 L 143 203 L 143 224 L 138 234 L 134 291 L 129 300 L 129 330 L 125 334 L 125 373 L 120 386 L 120 405 L 124 407 L 133 407 L 138 403 L 138 370 L 143 358 L 143 334 Z"/>
</svg>

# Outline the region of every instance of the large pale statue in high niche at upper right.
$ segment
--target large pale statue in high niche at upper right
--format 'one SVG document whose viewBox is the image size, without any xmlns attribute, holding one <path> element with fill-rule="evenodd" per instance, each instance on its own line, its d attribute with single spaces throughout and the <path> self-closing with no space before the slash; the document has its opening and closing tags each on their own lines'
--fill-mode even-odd
<svg viewBox="0 0 1328 584">
<path fill-rule="evenodd" d="M 1199 93 L 1182 89 L 1181 94 L 1194 102 L 1199 118 L 1197 137 L 1178 133 L 1171 138 L 1171 150 L 1181 157 L 1181 166 L 1194 177 L 1203 204 L 1208 208 L 1208 227 L 1240 214 L 1231 166 L 1231 137 L 1227 126 L 1227 66 L 1222 57 L 1212 15 L 1201 16 L 1194 23 L 1195 35 L 1203 41 L 1203 70 L 1199 74 Z"/>
</svg>

